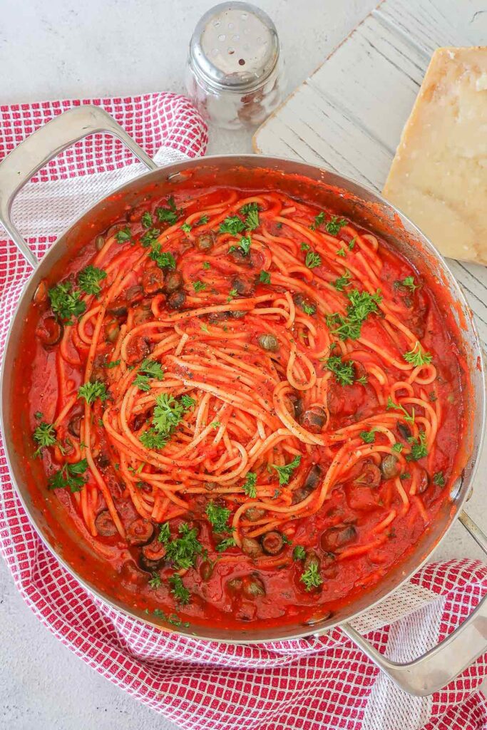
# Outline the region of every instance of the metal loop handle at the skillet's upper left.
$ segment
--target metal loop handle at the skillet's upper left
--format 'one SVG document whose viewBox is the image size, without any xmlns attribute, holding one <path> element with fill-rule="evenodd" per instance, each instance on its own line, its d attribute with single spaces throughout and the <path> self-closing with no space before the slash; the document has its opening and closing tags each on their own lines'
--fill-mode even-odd
<svg viewBox="0 0 487 730">
<path fill-rule="evenodd" d="M 118 137 L 150 170 L 157 169 L 156 163 L 129 137 L 120 124 L 100 107 L 91 104 L 74 107 L 50 120 L 24 139 L 0 163 L 0 223 L 23 257 L 34 267 L 37 266 L 37 258 L 10 216 L 15 196 L 55 155 L 74 145 L 74 142 L 79 142 L 83 137 L 97 132 L 107 132 Z"/>
</svg>

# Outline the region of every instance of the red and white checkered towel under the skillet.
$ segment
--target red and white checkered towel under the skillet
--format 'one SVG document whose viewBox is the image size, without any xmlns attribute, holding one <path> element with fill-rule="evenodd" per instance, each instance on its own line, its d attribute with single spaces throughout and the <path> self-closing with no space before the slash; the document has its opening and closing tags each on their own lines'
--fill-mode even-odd
<svg viewBox="0 0 487 730">
<path fill-rule="evenodd" d="M 27 134 L 75 104 L 100 104 L 160 164 L 204 154 L 207 130 L 183 97 L 155 93 L 0 107 L 0 160 Z M 120 142 L 79 142 L 39 172 L 14 218 L 40 257 L 69 221 L 142 171 Z M 0 231 L 0 356 L 9 320 L 31 273 Z M 0 549 L 28 605 L 65 645 L 113 683 L 194 730 L 485 729 L 476 688 L 487 656 L 444 691 L 399 691 L 340 629 L 324 637 L 229 646 L 177 637 L 113 610 L 82 588 L 37 537 L 9 479 L 0 442 Z M 426 566 L 392 599 L 354 624 L 397 661 L 450 633 L 487 592 L 487 566 Z M 399 620 L 400 619 L 400 620 Z"/>
</svg>

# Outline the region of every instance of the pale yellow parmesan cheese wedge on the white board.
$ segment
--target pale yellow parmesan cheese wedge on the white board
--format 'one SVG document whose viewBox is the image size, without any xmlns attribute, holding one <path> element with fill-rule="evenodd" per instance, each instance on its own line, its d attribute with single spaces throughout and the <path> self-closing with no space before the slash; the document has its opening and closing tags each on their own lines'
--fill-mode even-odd
<svg viewBox="0 0 487 730">
<path fill-rule="evenodd" d="M 434 52 L 383 194 L 443 255 L 487 264 L 487 47 Z"/>
</svg>

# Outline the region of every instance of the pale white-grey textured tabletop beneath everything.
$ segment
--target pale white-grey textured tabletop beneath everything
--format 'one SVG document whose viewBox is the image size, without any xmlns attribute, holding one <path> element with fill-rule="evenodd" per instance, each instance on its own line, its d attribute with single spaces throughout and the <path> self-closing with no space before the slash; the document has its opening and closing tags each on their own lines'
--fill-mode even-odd
<svg viewBox="0 0 487 730">
<path fill-rule="evenodd" d="M 291 89 L 376 3 L 258 4 L 277 25 Z M 183 91 L 189 37 L 211 5 L 205 0 L 1 0 L 0 104 L 95 93 Z M 210 153 L 251 150 L 248 133 L 210 132 Z M 469 511 L 485 525 L 480 488 Z M 461 526 L 455 526 L 435 557 L 451 556 L 481 557 Z M 23 604 L 1 561 L 0 697 L 0 728 L 175 727 L 96 675 L 54 639 Z"/>
</svg>

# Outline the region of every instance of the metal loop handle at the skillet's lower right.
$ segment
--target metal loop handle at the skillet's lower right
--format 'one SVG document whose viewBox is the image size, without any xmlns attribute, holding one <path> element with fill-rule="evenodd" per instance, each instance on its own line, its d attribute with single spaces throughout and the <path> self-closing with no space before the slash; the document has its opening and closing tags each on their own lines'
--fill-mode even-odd
<svg viewBox="0 0 487 730">
<path fill-rule="evenodd" d="M 459 520 L 487 553 L 486 534 L 466 512 L 460 512 Z M 407 664 L 387 659 L 349 623 L 342 623 L 341 628 L 399 688 L 408 694 L 425 697 L 448 685 L 487 651 L 487 596 L 446 639 Z"/>
</svg>

